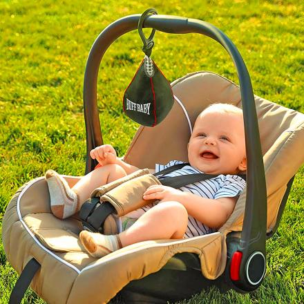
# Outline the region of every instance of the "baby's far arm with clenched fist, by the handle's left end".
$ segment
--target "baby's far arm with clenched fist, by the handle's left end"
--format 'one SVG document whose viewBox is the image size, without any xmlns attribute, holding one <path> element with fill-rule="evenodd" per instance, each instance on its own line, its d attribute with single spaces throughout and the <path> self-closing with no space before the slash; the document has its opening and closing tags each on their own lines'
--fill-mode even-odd
<svg viewBox="0 0 304 304">
<path fill-rule="evenodd" d="M 111 144 L 97 146 L 95 149 L 91 150 L 90 155 L 93 160 L 97 160 L 97 162 L 102 166 L 105 166 L 106 164 L 118 164 L 122 169 L 124 169 L 126 174 L 139 170 L 137 167 L 117 158 L 116 151 Z M 153 169 L 149 169 L 149 171 L 154 173 Z"/>
</svg>

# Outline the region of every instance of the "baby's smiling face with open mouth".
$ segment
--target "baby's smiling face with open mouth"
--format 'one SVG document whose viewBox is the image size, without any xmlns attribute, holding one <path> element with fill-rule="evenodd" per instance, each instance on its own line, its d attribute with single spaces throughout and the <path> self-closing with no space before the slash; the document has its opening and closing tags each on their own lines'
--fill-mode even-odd
<svg viewBox="0 0 304 304">
<path fill-rule="evenodd" d="M 209 174 L 237 174 L 246 169 L 243 116 L 202 113 L 188 144 L 192 167 Z"/>
</svg>

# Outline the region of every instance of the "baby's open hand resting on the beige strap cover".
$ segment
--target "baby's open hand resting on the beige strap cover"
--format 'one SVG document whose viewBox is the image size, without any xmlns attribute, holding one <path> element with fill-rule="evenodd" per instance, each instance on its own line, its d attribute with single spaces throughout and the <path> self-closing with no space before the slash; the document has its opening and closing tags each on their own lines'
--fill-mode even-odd
<svg viewBox="0 0 304 304">
<path fill-rule="evenodd" d="M 169 200 L 178 200 L 182 191 L 172 187 L 163 186 L 162 184 L 155 184 L 144 192 L 144 200 L 161 200 L 168 202 Z"/>
</svg>

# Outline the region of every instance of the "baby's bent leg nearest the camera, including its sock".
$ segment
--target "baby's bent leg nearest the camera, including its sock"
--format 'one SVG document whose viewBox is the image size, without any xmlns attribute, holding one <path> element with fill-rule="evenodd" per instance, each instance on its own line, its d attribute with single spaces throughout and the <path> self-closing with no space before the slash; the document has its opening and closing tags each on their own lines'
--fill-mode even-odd
<svg viewBox="0 0 304 304">
<path fill-rule="evenodd" d="M 82 231 L 80 240 L 89 254 L 101 258 L 111 251 L 144 240 L 182 238 L 187 224 L 188 213 L 182 204 L 162 202 L 146 211 L 129 229 L 117 236 Z"/>
</svg>

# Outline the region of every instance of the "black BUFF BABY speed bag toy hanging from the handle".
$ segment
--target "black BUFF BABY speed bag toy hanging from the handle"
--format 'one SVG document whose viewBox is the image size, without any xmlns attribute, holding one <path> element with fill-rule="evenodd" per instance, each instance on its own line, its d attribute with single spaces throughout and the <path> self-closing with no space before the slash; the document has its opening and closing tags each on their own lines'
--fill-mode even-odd
<svg viewBox="0 0 304 304">
<path fill-rule="evenodd" d="M 155 126 L 162 122 L 171 110 L 174 97 L 170 83 L 150 58 L 155 29 L 148 39 L 142 32 L 144 17 L 149 14 L 155 15 L 157 12 L 154 9 L 146 10 L 138 23 L 138 32 L 144 43 L 142 50 L 146 55 L 124 92 L 123 105 L 124 113 L 135 122 L 144 126 Z"/>
</svg>

